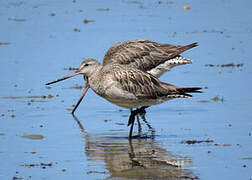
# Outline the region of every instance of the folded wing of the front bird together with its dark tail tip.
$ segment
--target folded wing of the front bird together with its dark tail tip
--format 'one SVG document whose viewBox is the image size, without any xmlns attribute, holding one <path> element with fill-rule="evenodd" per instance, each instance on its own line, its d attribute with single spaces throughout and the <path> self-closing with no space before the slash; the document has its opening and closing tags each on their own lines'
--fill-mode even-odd
<svg viewBox="0 0 252 180">
<path fill-rule="evenodd" d="M 112 69 L 111 69 L 112 68 Z M 187 93 L 199 93 L 199 87 L 178 87 L 160 81 L 155 76 L 135 68 L 128 68 L 121 65 L 113 65 L 108 72 L 113 72 L 113 77 L 120 89 L 134 94 L 138 98 L 156 99 L 163 96 L 184 95 L 191 97 Z"/>
</svg>

